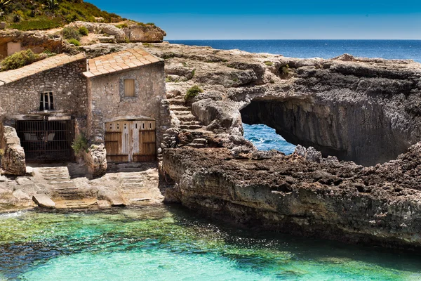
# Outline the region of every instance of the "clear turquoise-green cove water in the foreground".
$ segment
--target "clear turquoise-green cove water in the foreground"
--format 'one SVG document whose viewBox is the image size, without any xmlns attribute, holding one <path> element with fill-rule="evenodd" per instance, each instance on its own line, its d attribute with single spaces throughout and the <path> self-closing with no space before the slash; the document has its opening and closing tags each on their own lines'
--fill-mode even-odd
<svg viewBox="0 0 421 281">
<path fill-rule="evenodd" d="M 420 280 L 421 259 L 178 207 L 0 215 L 0 280 Z"/>
</svg>

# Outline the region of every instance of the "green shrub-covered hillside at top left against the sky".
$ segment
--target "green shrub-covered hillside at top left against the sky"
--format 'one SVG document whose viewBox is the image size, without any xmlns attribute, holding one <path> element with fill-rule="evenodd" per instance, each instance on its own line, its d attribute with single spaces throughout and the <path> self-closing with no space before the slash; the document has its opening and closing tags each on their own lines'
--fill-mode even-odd
<svg viewBox="0 0 421 281">
<path fill-rule="evenodd" d="M 0 0 L 0 20 L 18 30 L 46 30 L 69 22 L 126 20 L 83 0 Z"/>
</svg>

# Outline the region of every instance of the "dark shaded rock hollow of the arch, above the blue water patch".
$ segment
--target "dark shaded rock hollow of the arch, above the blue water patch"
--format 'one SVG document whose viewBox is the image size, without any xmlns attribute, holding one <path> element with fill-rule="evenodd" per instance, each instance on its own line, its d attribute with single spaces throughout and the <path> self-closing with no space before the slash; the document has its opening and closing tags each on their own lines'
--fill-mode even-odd
<svg viewBox="0 0 421 281">
<path fill-rule="evenodd" d="M 408 142 L 394 131 L 380 105 L 316 103 L 314 100 L 252 100 L 241 109 L 245 124 L 265 124 L 288 143 L 312 146 L 323 157 L 372 166 L 406 152 Z"/>
</svg>

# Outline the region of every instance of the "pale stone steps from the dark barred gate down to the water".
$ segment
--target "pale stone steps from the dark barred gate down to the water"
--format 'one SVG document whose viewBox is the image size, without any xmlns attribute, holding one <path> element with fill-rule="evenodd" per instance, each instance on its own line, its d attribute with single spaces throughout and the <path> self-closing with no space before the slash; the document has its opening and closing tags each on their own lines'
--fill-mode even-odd
<svg viewBox="0 0 421 281">
<path fill-rule="evenodd" d="M 76 187 L 67 166 L 44 166 L 36 168 L 36 172 L 53 186 L 51 197 L 56 208 L 87 208 L 97 202 L 96 198 L 86 198 L 86 192 Z"/>
</svg>

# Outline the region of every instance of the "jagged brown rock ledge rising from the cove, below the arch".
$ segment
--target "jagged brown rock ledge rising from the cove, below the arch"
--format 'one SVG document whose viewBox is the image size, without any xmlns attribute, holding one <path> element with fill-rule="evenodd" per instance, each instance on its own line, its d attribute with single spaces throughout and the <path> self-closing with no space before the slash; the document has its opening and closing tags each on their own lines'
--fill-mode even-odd
<svg viewBox="0 0 421 281">
<path fill-rule="evenodd" d="M 235 158 L 226 148 L 165 150 L 172 202 L 250 228 L 389 247 L 421 246 L 421 143 L 387 164 L 294 154 Z M 167 194 L 168 193 L 168 194 Z"/>
</svg>

